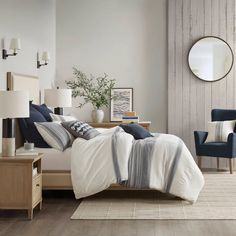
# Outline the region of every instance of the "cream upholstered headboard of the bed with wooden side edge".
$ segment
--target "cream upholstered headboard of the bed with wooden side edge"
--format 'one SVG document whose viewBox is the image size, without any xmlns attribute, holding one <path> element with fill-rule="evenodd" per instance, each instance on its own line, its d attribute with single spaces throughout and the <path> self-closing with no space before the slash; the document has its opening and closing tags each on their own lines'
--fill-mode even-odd
<svg viewBox="0 0 236 236">
<path fill-rule="evenodd" d="M 7 89 L 14 91 L 28 90 L 30 101 L 33 101 L 34 104 L 40 104 L 39 79 L 37 76 L 7 72 Z M 23 144 L 24 138 L 19 124 L 16 122 L 16 148 L 23 146 Z"/>
</svg>

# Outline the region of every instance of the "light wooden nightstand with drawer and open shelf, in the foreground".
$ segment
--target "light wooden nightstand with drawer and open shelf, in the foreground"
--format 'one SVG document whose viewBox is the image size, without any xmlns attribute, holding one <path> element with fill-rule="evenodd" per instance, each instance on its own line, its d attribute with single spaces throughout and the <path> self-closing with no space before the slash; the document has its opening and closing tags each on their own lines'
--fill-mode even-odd
<svg viewBox="0 0 236 236">
<path fill-rule="evenodd" d="M 0 157 L 0 209 L 28 210 L 29 219 L 36 206 L 41 210 L 42 156 Z"/>
</svg>

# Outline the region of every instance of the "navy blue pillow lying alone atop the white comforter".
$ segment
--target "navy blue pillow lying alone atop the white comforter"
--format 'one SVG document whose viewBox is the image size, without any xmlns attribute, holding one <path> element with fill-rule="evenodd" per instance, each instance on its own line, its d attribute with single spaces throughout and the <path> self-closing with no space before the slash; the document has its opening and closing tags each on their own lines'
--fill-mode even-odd
<svg viewBox="0 0 236 236">
<path fill-rule="evenodd" d="M 121 124 L 120 127 L 126 132 L 134 136 L 135 139 L 145 139 L 153 137 L 143 126 L 138 124 Z"/>
</svg>

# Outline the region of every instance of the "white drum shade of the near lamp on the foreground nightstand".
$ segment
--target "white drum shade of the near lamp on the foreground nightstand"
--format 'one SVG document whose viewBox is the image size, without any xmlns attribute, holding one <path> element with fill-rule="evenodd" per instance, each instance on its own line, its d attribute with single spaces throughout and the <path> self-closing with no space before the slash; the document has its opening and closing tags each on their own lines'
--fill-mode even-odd
<svg viewBox="0 0 236 236">
<path fill-rule="evenodd" d="M 28 91 L 0 91 L 0 117 L 29 117 Z"/>
</svg>

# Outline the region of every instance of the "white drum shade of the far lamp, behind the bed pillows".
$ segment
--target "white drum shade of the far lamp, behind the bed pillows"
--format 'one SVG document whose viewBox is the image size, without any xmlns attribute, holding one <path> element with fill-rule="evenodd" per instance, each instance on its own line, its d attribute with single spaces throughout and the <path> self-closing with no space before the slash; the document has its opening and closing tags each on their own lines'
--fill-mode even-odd
<svg viewBox="0 0 236 236">
<path fill-rule="evenodd" d="M 71 107 L 71 89 L 45 89 L 44 102 L 49 107 Z"/>
</svg>

